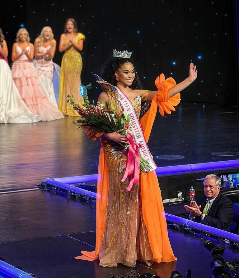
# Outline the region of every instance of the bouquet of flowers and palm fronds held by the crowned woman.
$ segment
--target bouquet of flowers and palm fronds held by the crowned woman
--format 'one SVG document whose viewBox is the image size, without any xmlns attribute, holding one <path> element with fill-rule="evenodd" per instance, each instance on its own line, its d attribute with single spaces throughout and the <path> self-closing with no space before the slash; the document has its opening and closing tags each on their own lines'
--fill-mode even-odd
<svg viewBox="0 0 239 278">
<path fill-rule="evenodd" d="M 124 129 L 120 134 L 125 135 L 129 140 L 129 144 L 122 145 L 124 153 L 127 155 L 127 163 L 135 163 L 133 155 L 136 154 L 135 160 L 139 159 L 139 168 L 143 173 L 149 172 L 152 169 L 149 163 L 139 154 L 141 146 L 135 142 L 129 115 L 125 111 L 123 111 L 124 117 L 119 118 L 115 113 L 113 105 L 111 106 L 113 111 L 110 111 L 104 102 L 102 104 L 98 102 L 97 106 L 88 104 L 79 105 L 74 103 L 72 96 L 68 95 L 68 98 L 68 102 L 73 105 L 73 109 L 80 115 L 79 119 L 73 122 L 74 125 L 78 126 L 77 129 L 86 129 L 84 133 L 91 140 L 96 140 L 97 137 L 105 133 Z"/>
</svg>

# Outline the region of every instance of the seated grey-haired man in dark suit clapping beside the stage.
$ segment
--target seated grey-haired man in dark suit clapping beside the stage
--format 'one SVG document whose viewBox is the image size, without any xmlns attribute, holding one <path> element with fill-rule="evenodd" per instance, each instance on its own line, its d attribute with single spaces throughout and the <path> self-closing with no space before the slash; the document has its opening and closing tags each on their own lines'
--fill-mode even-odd
<svg viewBox="0 0 239 278">
<path fill-rule="evenodd" d="M 184 206 L 190 212 L 189 219 L 230 232 L 233 206 L 232 201 L 220 193 L 221 179 L 217 175 L 207 175 L 203 184 L 205 196 Z"/>
</svg>

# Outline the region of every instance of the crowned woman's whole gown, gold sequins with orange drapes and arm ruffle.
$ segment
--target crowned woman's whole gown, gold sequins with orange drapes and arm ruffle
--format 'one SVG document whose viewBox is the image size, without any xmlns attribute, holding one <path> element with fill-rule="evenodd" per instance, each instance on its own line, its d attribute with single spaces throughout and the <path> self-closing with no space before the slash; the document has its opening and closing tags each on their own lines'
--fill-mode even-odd
<svg viewBox="0 0 239 278">
<path fill-rule="evenodd" d="M 176 83 L 161 75 L 155 81 L 158 93 L 148 112 L 140 119 L 146 141 L 154 122 L 157 106 L 160 114 L 171 114 L 180 101 L 180 94 L 168 98 L 168 89 Z M 109 110 L 113 105 L 118 117 L 123 112 L 117 99 L 117 90 L 109 84 L 101 85 L 109 97 Z M 141 100 L 145 92 L 137 96 L 132 105 L 139 117 Z M 104 139 L 102 139 L 103 141 Z M 167 233 L 162 197 L 155 171 L 140 172 L 139 184 L 127 191 L 127 180 L 121 182 L 126 166 L 123 148 L 112 141 L 101 144 L 96 203 L 96 250 L 82 251 L 76 259 L 93 261 L 99 258 L 100 266 L 117 266 L 122 263 L 133 266 L 136 260 L 148 266 L 154 262 L 171 262 L 172 252 Z"/>
</svg>

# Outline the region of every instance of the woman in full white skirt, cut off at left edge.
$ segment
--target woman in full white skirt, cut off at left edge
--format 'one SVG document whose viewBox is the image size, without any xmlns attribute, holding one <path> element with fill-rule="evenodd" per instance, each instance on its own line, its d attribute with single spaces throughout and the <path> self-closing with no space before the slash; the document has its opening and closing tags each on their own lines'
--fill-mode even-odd
<svg viewBox="0 0 239 278">
<path fill-rule="evenodd" d="M 0 28 L 0 124 L 25 124 L 41 120 L 33 115 L 21 99 L 12 80 L 12 73 L 7 62 L 7 43 Z"/>
</svg>

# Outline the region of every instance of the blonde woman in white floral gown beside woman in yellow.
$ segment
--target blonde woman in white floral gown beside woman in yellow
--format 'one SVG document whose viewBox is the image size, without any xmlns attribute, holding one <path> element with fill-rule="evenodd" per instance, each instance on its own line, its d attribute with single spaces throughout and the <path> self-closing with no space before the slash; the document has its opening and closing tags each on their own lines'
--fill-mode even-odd
<svg viewBox="0 0 239 278">
<path fill-rule="evenodd" d="M 34 66 L 39 74 L 39 79 L 47 98 L 51 104 L 57 107 L 56 98 L 53 87 L 53 68 L 52 61 L 56 51 L 56 41 L 52 33 L 51 27 L 44 27 L 40 36 L 34 42 Z"/>
</svg>

